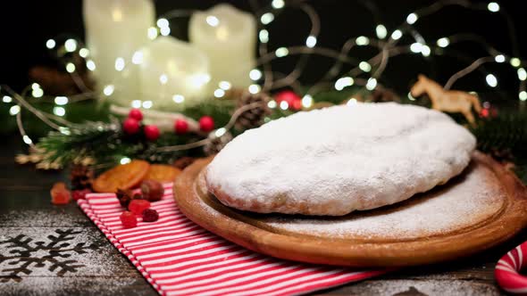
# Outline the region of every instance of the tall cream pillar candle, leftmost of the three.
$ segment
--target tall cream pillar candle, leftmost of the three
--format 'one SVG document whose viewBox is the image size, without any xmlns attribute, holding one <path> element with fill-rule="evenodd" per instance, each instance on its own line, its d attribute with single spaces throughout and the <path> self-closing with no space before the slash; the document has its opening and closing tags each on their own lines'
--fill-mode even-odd
<svg viewBox="0 0 527 296">
<path fill-rule="evenodd" d="M 97 90 L 130 105 L 139 90 L 131 57 L 156 35 L 152 0 L 84 0 L 83 14 Z"/>
</svg>

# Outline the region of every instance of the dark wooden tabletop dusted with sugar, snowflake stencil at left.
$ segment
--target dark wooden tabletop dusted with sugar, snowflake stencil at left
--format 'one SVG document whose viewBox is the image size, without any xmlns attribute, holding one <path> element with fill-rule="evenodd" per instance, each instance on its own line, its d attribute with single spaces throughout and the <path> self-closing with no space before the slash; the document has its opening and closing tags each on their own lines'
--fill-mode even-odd
<svg viewBox="0 0 527 296">
<path fill-rule="evenodd" d="M 155 295 L 74 202 L 50 203 L 49 189 L 65 181 L 65 173 L 15 164 L 13 156 L 23 151 L 14 136 L 0 148 L 0 294 Z M 317 294 L 503 294 L 494 282 L 494 266 L 526 234 L 473 258 L 406 268 Z"/>
</svg>

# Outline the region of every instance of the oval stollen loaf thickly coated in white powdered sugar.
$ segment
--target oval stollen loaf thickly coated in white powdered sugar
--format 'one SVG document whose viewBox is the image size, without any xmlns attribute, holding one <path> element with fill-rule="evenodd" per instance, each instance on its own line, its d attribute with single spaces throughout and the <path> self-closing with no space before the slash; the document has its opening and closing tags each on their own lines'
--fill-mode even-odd
<svg viewBox="0 0 527 296">
<path fill-rule="evenodd" d="M 206 182 L 239 210 L 339 216 L 446 183 L 467 166 L 475 143 L 439 111 L 335 106 L 248 130 L 214 158 Z"/>
</svg>

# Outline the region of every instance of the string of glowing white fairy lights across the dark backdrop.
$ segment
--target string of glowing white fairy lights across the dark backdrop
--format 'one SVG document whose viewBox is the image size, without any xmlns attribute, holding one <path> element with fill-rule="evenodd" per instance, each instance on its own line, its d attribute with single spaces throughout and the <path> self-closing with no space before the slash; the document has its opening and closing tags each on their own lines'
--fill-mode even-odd
<svg viewBox="0 0 527 296">
<path fill-rule="evenodd" d="M 302 86 L 298 82 L 298 78 L 302 75 L 305 65 L 310 58 L 310 55 L 321 55 L 329 57 L 333 60 L 330 70 L 323 73 L 322 78 L 310 86 L 305 95 L 302 98 L 302 106 L 309 108 L 314 103 L 313 97 L 322 90 L 332 87 L 337 91 L 344 90 L 348 86 L 362 86 L 367 90 L 373 90 L 375 88 L 383 87 L 381 85 L 382 73 L 386 69 L 389 59 L 396 57 L 401 54 L 421 54 L 423 57 L 429 57 L 431 55 L 448 54 L 447 50 L 451 45 L 461 42 L 473 42 L 481 45 L 482 48 L 489 53 L 489 56 L 481 57 L 470 63 L 466 68 L 456 72 L 451 78 L 448 79 L 445 85 L 446 89 L 449 89 L 456 83 L 456 80 L 463 78 L 464 76 L 472 73 L 474 70 L 480 70 L 485 75 L 485 81 L 489 87 L 498 86 L 498 77 L 491 72 L 482 70 L 482 65 L 490 62 L 495 63 L 508 63 L 517 72 L 517 78 L 519 83 L 518 99 L 521 102 L 527 101 L 526 92 L 526 81 L 527 71 L 524 68 L 525 61 L 518 56 L 519 50 L 517 48 L 517 40 L 515 37 L 515 29 L 510 16 L 504 11 L 497 2 L 489 2 L 488 4 L 473 4 L 466 0 L 440 0 L 429 6 L 425 6 L 414 12 L 409 13 L 406 16 L 405 21 L 401 23 L 396 29 L 391 32 L 389 29 L 381 23 L 380 18 L 371 5 L 364 5 L 374 15 L 377 24 L 374 26 L 374 34 L 376 37 L 352 37 L 342 45 L 339 50 L 317 46 L 318 37 L 321 34 L 321 22 L 317 12 L 310 4 L 304 2 L 296 2 L 293 6 L 290 6 L 284 0 L 272 0 L 272 2 L 263 7 L 258 7 L 255 1 L 249 2 L 253 8 L 254 14 L 258 21 L 258 32 L 257 37 L 259 40 L 258 53 L 256 68 L 251 70 L 248 75 L 253 81 L 253 84 L 247 87 L 247 91 L 251 94 L 257 94 L 259 92 L 270 92 L 277 88 L 291 87 L 297 93 L 301 93 Z M 467 10 L 472 11 L 486 11 L 489 13 L 499 13 L 506 20 L 506 24 L 509 27 L 510 41 L 513 48 L 513 54 L 506 54 L 498 51 L 494 47 L 488 45 L 484 39 L 474 34 L 456 34 L 449 37 L 440 37 L 434 42 L 427 42 L 422 37 L 422 34 L 416 29 L 416 25 L 425 17 L 430 16 L 433 13 L 439 12 L 441 9 L 447 6 L 460 6 Z M 310 21 L 310 29 L 307 37 L 305 37 L 305 45 L 294 45 L 294 46 L 280 46 L 276 49 L 270 50 L 268 48 L 269 41 L 271 39 L 271 33 L 268 26 L 275 21 L 280 13 L 286 8 L 295 8 L 300 12 L 305 13 Z M 156 21 L 156 27 L 152 27 L 147 30 L 147 36 L 150 39 L 155 39 L 159 35 L 168 36 L 171 34 L 171 21 L 178 18 L 188 18 L 194 11 L 193 10 L 173 10 L 171 12 L 163 13 L 163 15 Z M 214 16 L 207 17 L 207 22 L 214 22 Z M 215 18 L 217 21 L 217 18 Z M 210 24 L 210 23 L 209 23 Z M 398 45 L 404 36 L 410 36 L 414 39 L 414 42 L 409 45 Z M 369 60 L 359 61 L 356 58 L 349 56 L 350 51 L 355 46 L 370 46 L 378 52 L 373 55 Z M 9 87 L 2 86 L 2 102 L 13 104 L 9 108 L 9 113 L 16 116 L 17 124 L 21 132 L 24 143 L 33 145 L 33 141 L 25 133 L 22 126 L 21 120 L 21 107 L 28 109 L 32 113 L 43 119 L 43 121 L 50 127 L 57 129 L 63 133 L 68 132 L 68 127 L 73 127 L 74 124 L 68 122 L 63 118 L 67 112 L 67 105 L 71 103 L 77 103 L 82 100 L 100 98 L 100 97 L 111 97 L 116 89 L 119 89 L 119 81 L 114 81 L 112 84 L 108 84 L 102 87 L 101 93 L 96 93 L 90 90 L 84 85 L 82 78 L 79 76 L 78 67 L 75 62 L 71 60 L 71 54 L 76 53 L 84 59 L 86 69 L 88 71 L 96 70 L 96 62 L 90 58 L 90 52 L 86 45 L 81 40 L 76 38 L 66 38 L 63 42 L 59 43 L 55 39 L 48 39 L 46 41 L 46 48 L 53 51 L 54 54 L 59 58 L 59 61 L 63 63 L 64 70 L 70 75 L 75 84 L 81 90 L 78 95 L 59 95 L 49 96 L 46 95 L 44 90 L 38 83 L 32 83 L 27 87 L 21 95 L 14 93 Z M 299 56 L 296 65 L 293 70 L 287 74 L 280 73 L 272 70 L 272 62 L 276 59 L 287 58 L 290 56 Z M 456 56 L 456 54 L 452 54 Z M 142 62 L 141 52 L 136 52 L 131 58 L 131 64 L 138 65 Z M 118 72 L 126 74 L 128 70 L 127 61 L 119 57 L 115 60 L 114 68 Z M 347 70 L 342 75 L 341 69 L 344 65 L 351 65 L 351 70 Z M 160 83 L 163 83 L 163 78 L 160 77 Z M 213 91 L 215 98 L 221 99 L 226 95 L 227 91 L 230 90 L 231 84 L 229 81 L 220 81 L 217 88 Z M 146 98 L 151 94 L 141 94 Z M 49 102 L 54 103 L 53 114 L 38 111 L 33 108 L 27 98 L 47 98 Z M 408 95 L 410 100 L 414 100 L 411 95 Z M 183 103 L 185 98 L 182 95 L 171 95 L 171 99 L 174 103 Z M 355 103 L 356 99 L 350 97 L 348 103 Z M 270 101 L 268 106 L 272 109 L 280 108 L 282 110 L 288 110 L 289 105 L 287 102 L 277 103 Z M 132 108 L 143 108 L 146 111 L 151 108 L 155 108 L 154 103 L 150 100 L 132 100 L 130 102 Z M 56 123 L 60 125 L 57 125 Z M 63 126 L 61 126 L 63 125 Z M 229 128 L 227 128 L 229 127 Z M 220 127 L 215 132 L 216 134 L 224 134 L 229 131 L 230 126 Z M 221 132 L 217 132 L 217 131 Z M 221 136 L 221 135 L 220 135 Z M 180 150 L 181 147 L 171 146 L 171 149 L 163 149 L 163 152 Z"/>
</svg>

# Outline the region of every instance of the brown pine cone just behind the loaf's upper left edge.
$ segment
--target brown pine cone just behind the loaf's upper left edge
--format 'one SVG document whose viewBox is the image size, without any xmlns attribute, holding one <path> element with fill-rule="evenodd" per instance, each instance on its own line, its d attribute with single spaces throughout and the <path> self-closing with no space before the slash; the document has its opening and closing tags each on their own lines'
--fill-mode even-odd
<svg viewBox="0 0 527 296">
<path fill-rule="evenodd" d="M 265 93 L 250 94 L 244 93 L 237 103 L 237 109 L 246 106 L 251 103 L 261 103 L 261 106 L 252 108 L 241 113 L 236 120 L 236 127 L 238 130 L 245 130 L 254 127 L 260 127 L 263 124 L 263 119 L 266 115 L 272 113 L 271 109 L 267 106 L 270 97 Z"/>
</svg>

